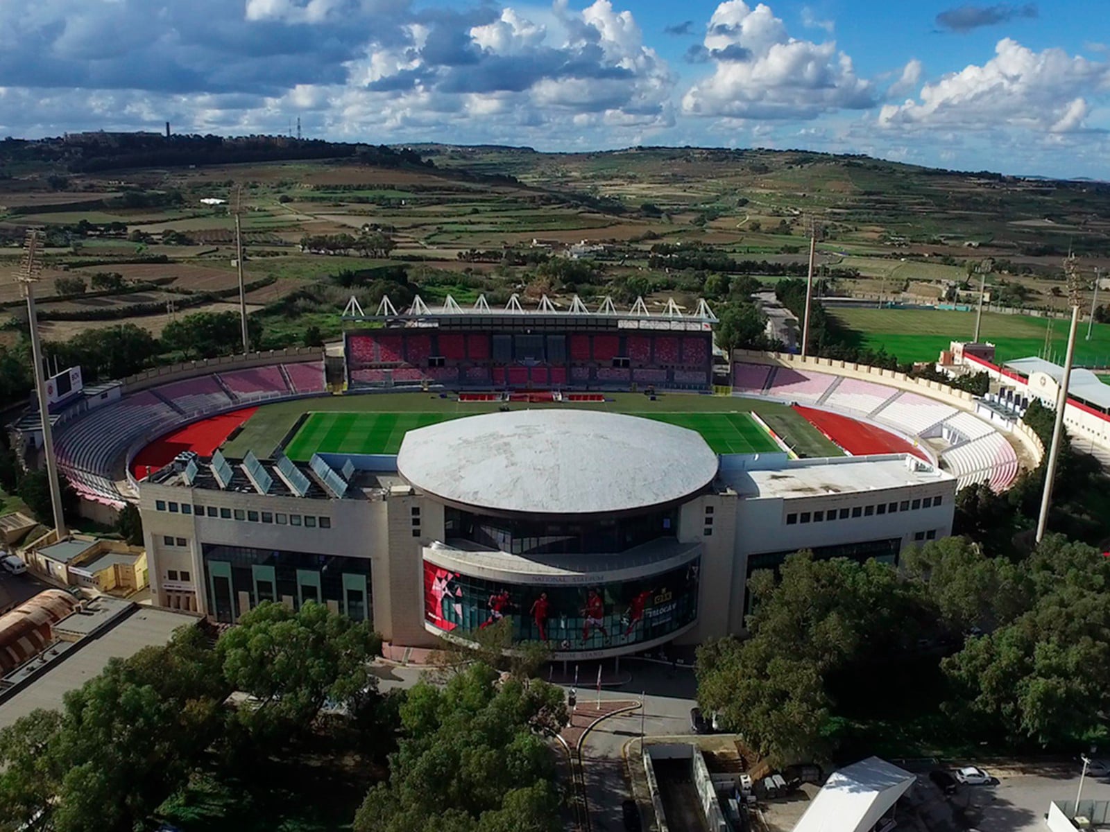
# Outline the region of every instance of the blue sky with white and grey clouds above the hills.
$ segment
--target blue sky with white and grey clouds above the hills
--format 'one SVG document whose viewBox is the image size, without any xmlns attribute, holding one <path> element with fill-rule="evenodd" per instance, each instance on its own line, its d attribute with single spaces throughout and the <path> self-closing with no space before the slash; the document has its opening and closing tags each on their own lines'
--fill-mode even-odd
<svg viewBox="0 0 1110 832">
<path fill-rule="evenodd" d="M 0 0 L 0 135 L 808 149 L 1110 180 L 1104 0 Z"/>
</svg>

